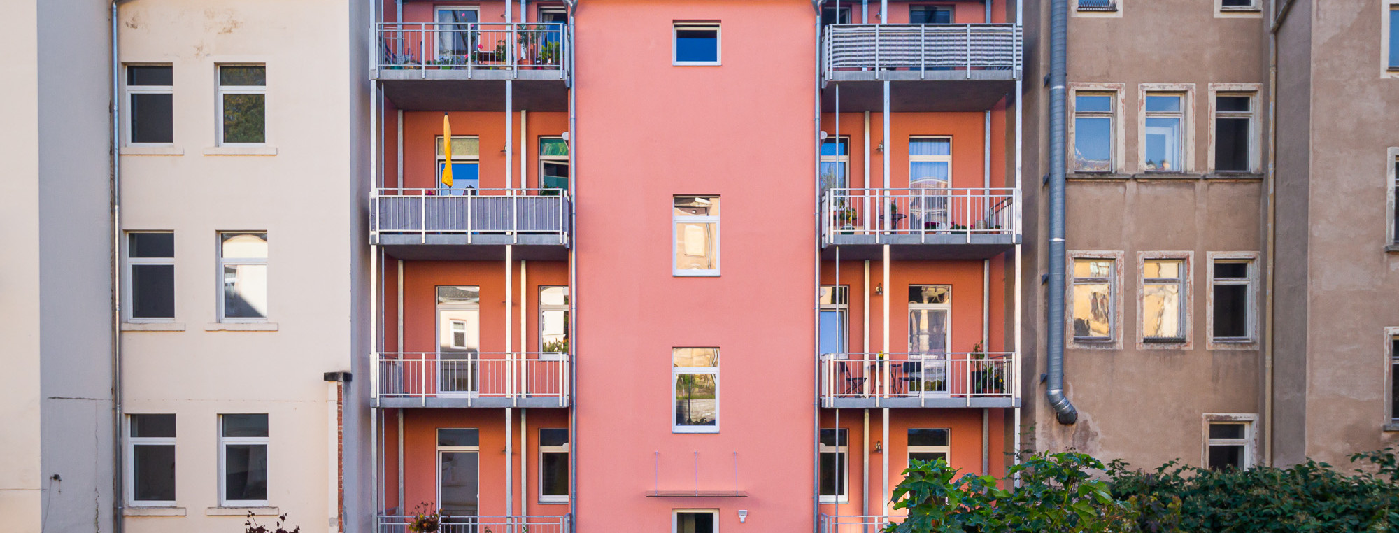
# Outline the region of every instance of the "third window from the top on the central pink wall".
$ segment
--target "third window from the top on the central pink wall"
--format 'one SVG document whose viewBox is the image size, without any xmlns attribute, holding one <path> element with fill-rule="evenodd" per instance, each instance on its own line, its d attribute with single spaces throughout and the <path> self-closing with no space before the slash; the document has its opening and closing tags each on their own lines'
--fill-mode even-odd
<svg viewBox="0 0 1399 533">
<path fill-rule="evenodd" d="M 672 348 L 670 389 L 679 434 L 719 432 L 719 348 Z"/>
</svg>

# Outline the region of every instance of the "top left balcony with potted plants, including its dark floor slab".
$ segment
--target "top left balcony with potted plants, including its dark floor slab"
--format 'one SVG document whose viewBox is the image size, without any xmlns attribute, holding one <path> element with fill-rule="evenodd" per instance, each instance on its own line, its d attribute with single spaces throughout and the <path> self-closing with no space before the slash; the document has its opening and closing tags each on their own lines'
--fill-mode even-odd
<svg viewBox="0 0 1399 533">
<path fill-rule="evenodd" d="M 372 77 L 404 111 L 567 111 L 572 28 L 558 22 L 381 22 Z"/>
</svg>

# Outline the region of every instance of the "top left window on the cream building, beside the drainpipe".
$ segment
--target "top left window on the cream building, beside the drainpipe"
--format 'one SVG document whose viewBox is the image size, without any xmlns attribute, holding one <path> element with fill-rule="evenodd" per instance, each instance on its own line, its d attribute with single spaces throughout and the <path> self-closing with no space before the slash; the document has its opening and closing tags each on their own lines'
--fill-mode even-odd
<svg viewBox="0 0 1399 533">
<path fill-rule="evenodd" d="M 175 74 L 169 64 L 126 67 L 126 144 L 175 143 Z"/>
</svg>

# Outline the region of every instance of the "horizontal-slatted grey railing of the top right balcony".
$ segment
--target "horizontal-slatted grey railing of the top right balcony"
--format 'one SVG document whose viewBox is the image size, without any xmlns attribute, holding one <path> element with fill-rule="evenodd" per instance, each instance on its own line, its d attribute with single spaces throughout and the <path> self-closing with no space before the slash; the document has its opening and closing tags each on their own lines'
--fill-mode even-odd
<svg viewBox="0 0 1399 533">
<path fill-rule="evenodd" d="M 1018 24 L 832 24 L 825 27 L 825 77 L 838 70 L 1021 69 Z M 921 76 L 926 77 L 926 74 Z"/>
</svg>

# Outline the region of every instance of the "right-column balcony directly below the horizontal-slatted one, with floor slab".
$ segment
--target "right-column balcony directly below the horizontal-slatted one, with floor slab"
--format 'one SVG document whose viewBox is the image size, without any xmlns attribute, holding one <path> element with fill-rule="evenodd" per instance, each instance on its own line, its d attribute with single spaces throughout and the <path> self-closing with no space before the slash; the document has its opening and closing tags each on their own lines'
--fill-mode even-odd
<svg viewBox="0 0 1399 533">
<path fill-rule="evenodd" d="M 1016 189 L 827 189 L 823 256 L 989 259 L 1020 242 Z"/>
</svg>

